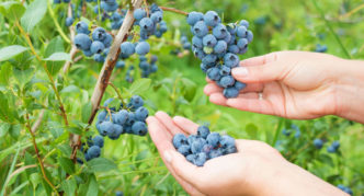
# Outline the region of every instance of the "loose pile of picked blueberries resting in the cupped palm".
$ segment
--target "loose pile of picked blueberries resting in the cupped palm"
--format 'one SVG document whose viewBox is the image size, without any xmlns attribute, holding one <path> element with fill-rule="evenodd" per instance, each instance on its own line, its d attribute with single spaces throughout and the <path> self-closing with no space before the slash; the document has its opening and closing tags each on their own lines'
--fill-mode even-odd
<svg viewBox="0 0 364 196">
<path fill-rule="evenodd" d="M 203 166 L 207 160 L 237 152 L 232 137 L 211 132 L 206 126 L 200 126 L 197 135 L 186 137 L 177 134 L 172 142 L 187 161 L 197 166 Z"/>
</svg>

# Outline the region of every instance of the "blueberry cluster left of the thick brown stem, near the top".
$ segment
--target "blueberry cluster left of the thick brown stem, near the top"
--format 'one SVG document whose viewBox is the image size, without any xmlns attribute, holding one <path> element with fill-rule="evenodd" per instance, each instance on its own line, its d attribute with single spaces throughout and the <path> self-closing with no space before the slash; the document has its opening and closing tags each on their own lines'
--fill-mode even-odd
<svg viewBox="0 0 364 196">
<path fill-rule="evenodd" d="M 92 32 L 89 25 L 80 21 L 76 24 L 77 35 L 73 43 L 78 49 L 81 49 L 87 57 L 93 56 L 98 62 L 103 62 L 109 54 L 113 37 L 103 27 L 95 27 Z"/>
</svg>

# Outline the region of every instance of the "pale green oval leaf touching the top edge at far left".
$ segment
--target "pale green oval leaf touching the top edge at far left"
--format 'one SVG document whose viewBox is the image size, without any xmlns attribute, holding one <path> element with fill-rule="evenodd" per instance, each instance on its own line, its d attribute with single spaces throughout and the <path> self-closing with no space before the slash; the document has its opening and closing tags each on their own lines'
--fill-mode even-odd
<svg viewBox="0 0 364 196">
<path fill-rule="evenodd" d="M 26 32 L 31 32 L 41 22 L 47 11 L 47 0 L 35 0 L 26 9 L 21 24 Z"/>
</svg>

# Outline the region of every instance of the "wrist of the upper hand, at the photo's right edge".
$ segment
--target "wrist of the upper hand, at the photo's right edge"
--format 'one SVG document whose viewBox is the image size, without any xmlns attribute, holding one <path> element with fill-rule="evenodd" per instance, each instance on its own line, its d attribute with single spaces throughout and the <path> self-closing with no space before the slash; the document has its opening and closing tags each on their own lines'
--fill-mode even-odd
<svg viewBox="0 0 364 196">
<path fill-rule="evenodd" d="M 335 69 L 334 115 L 364 123 L 364 61 L 343 60 L 339 67 Z"/>
</svg>

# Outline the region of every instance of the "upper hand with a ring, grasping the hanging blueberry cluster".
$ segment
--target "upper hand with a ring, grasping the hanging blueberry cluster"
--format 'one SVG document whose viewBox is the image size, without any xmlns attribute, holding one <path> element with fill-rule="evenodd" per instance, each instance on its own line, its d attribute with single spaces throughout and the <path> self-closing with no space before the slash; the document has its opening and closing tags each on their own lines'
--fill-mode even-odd
<svg viewBox="0 0 364 196">
<path fill-rule="evenodd" d="M 207 79 L 211 102 L 241 111 L 310 119 L 338 115 L 364 123 L 364 62 L 327 54 L 277 51 L 242 60 L 232 77 L 247 88 L 236 99 Z M 262 99 L 259 99 L 259 92 Z"/>
</svg>

